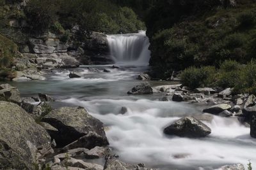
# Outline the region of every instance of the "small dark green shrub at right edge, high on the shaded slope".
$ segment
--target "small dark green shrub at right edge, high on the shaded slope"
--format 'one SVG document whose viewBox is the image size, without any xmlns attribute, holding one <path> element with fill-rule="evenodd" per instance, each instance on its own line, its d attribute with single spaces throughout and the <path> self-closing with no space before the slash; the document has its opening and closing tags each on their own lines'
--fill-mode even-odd
<svg viewBox="0 0 256 170">
<path fill-rule="evenodd" d="M 239 20 L 241 27 L 250 27 L 255 25 L 256 22 L 256 13 L 255 11 L 244 11 L 237 18 Z"/>
</svg>

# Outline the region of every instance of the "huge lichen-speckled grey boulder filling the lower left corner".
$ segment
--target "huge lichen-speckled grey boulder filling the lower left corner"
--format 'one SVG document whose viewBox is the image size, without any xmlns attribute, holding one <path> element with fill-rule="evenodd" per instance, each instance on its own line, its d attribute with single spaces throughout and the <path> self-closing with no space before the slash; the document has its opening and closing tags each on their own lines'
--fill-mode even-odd
<svg viewBox="0 0 256 170">
<path fill-rule="evenodd" d="M 17 104 L 0 101 L 0 169 L 33 169 L 52 151 L 43 127 Z"/>
</svg>

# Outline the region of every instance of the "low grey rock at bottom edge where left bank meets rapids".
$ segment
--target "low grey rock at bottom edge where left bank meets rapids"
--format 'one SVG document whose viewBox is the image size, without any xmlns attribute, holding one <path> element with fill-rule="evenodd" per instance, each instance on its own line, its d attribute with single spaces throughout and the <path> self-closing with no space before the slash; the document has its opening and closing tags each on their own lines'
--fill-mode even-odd
<svg viewBox="0 0 256 170">
<path fill-rule="evenodd" d="M 108 155 L 104 164 L 104 170 L 157 170 L 148 169 L 145 164 L 138 164 L 137 166 L 127 164 L 118 160 L 115 155 Z"/>
</svg>

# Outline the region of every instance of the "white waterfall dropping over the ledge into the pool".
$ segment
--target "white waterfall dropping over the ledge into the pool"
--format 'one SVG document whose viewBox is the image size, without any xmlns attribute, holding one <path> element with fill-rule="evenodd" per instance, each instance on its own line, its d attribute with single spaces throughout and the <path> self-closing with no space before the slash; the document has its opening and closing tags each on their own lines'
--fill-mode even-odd
<svg viewBox="0 0 256 170">
<path fill-rule="evenodd" d="M 147 65 L 150 45 L 145 31 L 136 34 L 108 35 L 111 57 L 117 64 Z"/>
</svg>

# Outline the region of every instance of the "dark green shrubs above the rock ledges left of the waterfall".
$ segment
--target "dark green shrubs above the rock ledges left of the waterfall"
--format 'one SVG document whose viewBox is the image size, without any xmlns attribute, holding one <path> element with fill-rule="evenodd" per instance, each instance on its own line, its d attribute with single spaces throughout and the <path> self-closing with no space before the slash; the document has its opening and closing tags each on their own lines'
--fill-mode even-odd
<svg viewBox="0 0 256 170">
<path fill-rule="evenodd" d="M 30 31 L 34 32 L 52 28 L 65 34 L 65 30 L 77 26 L 80 32 L 125 33 L 145 29 L 131 8 L 108 0 L 31 0 L 25 14 Z"/>
</svg>

